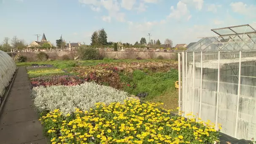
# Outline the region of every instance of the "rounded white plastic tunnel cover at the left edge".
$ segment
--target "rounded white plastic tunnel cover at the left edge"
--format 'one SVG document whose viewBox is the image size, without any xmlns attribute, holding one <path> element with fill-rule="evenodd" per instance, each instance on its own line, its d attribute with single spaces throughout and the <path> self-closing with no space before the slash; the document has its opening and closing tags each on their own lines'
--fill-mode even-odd
<svg viewBox="0 0 256 144">
<path fill-rule="evenodd" d="M 11 56 L 0 51 L 0 99 L 3 97 L 15 71 L 16 64 Z"/>
</svg>

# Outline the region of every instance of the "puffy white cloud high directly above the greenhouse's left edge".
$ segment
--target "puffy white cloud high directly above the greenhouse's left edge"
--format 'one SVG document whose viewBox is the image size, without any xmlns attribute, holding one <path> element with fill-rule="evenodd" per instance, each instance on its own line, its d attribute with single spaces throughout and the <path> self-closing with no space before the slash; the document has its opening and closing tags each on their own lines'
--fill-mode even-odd
<svg viewBox="0 0 256 144">
<path fill-rule="evenodd" d="M 189 20 L 191 18 L 191 15 L 187 8 L 187 4 L 179 1 L 177 3 L 176 9 L 173 6 L 171 6 L 171 13 L 168 17 L 178 19 L 178 20 L 181 20 L 181 19 Z"/>
</svg>

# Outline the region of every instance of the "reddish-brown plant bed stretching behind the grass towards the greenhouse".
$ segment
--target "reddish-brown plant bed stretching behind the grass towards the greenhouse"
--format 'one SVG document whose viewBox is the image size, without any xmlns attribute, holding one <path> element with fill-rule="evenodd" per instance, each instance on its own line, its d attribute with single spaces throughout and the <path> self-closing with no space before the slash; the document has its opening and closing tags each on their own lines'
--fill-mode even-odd
<svg viewBox="0 0 256 144">
<path fill-rule="evenodd" d="M 176 68 L 174 61 L 158 62 L 119 62 L 98 64 L 95 66 L 73 67 L 71 73 L 83 78 L 88 82 L 96 82 L 101 85 L 108 85 L 113 88 L 122 89 L 126 83 L 121 82 L 120 73 L 132 74 L 135 70 L 142 70 L 146 73 L 168 72 L 171 68 Z"/>
</svg>

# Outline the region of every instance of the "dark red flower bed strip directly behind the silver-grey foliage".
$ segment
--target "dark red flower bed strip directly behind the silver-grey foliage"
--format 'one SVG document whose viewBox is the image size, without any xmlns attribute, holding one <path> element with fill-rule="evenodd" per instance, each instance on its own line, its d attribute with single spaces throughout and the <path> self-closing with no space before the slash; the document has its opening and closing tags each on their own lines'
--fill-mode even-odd
<svg viewBox="0 0 256 144">
<path fill-rule="evenodd" d="M 76 76 L 62 75 L 62 76 L 43 76 L 30 79 L 33 87 L 36 86 L 50 86 L 50 85 L 79 85 L 83 80 Z"/>
</svg>

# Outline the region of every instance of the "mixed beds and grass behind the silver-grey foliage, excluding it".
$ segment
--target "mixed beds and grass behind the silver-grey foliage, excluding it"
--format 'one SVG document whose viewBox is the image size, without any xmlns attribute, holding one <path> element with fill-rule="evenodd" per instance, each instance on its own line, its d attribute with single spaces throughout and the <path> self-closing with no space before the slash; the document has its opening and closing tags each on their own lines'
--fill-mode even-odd
<svg viewBox="0 0 256 144">
<path fill-rule="evenodd" d="M 164 102 L 165 109 L 178 107 L 176 61 L 47 61 L 20 63 L 27 66 L 33 86 L 77 85 L 95 82 L 138 96 L 142 101 Z"/>
</svg>

